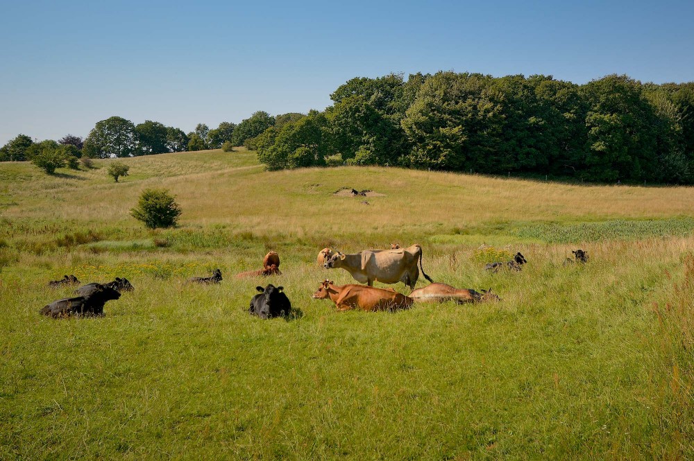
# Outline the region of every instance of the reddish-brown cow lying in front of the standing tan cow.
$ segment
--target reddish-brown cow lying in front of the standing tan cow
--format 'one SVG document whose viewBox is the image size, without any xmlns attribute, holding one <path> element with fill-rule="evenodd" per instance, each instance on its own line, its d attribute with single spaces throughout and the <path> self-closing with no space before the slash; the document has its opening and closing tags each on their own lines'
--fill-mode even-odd
<svg viewBox="0 0 694 461">
<path fill-rule="evenodd" d="M 394 311 L 412 306 L 413 299 L 392 288 L 373 288 L 364 285 L 337 286 L 325 280 L 312 295 L 313 299 L 330 299 L 338 311 L 361 309 L 362 311 Z"/>
</svg>

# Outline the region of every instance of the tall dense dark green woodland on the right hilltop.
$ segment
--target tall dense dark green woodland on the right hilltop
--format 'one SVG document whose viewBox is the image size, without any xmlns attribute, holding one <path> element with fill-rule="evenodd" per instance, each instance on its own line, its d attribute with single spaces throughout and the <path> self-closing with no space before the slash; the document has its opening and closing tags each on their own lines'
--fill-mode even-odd
<svg viewBox="0 0 694 461">
<path fill-rule="evenodd" d="M 692 82 L 439 72 L 353 78 L 330 98 L 253 140 L 260 161 L 694 183 Z"/>
</svg>

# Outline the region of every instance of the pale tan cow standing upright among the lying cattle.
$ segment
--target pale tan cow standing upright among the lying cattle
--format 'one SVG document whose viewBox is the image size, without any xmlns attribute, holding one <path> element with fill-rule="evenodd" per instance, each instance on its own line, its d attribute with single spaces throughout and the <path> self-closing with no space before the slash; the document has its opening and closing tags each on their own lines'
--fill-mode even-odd
<svg viewBox="0 0 694 461">
<path fill-rule="evenodd" d="M 397 284 L 401 281 L 414 289 L 419 279 L 419 269 L 428 281 L 433 282 L 422 268 L 421 245 L 399 250 L 364 250 L 355 254 L 337 252 L 325 263 L 325 268 L 343 268 L 356 281 L 369 286 L 373 286 L 374 281 L 382 284 Z"/>
</svg>

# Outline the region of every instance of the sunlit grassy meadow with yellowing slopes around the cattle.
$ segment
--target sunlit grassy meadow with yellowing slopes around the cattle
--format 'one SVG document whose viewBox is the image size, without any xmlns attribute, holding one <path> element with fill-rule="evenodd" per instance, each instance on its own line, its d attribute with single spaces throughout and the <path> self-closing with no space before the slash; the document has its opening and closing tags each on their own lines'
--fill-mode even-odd
<svg viewBox="0 0 694 461">
<path fill-rule="evenodd" d="M 694 458 L 694 188 L 271 173 L 244 150 L 120 161 L 118 184 L 110 160 L 0 164 L 0 460 Z M 177 196 L 178 227 L 128 215 L 153 186 Z M 434 281 L 502 301 L 337 313 L 310 298 L 352 283 L 316 266 L 323 247 L 396 242 L 423 246 Z M 528 264 L 486 273 L 482 244 Z M 579 247 L 589 263 L 563 266 Z M 234 277 L 269 250 L 283 275 Z M 185 284 L 214 268 L 219 286 Z M 103 318 L 44 318 L 74 289 L 46 286 L 64 274 L 135 291 Z M 291 318 L 248 315 L 267 283 Z"/>
</svg>

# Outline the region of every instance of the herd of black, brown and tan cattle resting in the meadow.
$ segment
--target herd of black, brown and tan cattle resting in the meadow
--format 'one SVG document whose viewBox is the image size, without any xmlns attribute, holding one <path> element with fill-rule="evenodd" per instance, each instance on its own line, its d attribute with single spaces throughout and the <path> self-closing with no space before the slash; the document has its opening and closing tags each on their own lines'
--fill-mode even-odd
<svg viewBox="0 0 694 461">
<path fill-rule="evenodd" d="M 566 258 L 564 266 L 570 264 L 588 262 L 588 254 L 584 250 L 572 251 L 574 258 Z M 395 311 L 409 308 L 414 302 L 467 302 L 499 301 L 500 298 L 489 290 L 459 289 L 447 284 L 438 284 L 429 277 L 422 267 L 422 247 L 412 245 L 401 248 L 398 244 L 391 244 L 388 250 L 363 250 L 354 254 L 343 254 L 323 248 L 319 252 L 316 262 L 325 269 L 342 268 L 352 277 L 364 285 L 347 284 L 335 285 L 329 279 L 321 282 L 313 299 L 330 299 L 338 311 L 360 309 L 362 311 Z M 527 261 L 523 254 L 516 253 L 511 261 L 498 261 L 484 266 L 484 270 L 498 272 L 506 269 L 520 272 Z M 237 277 L 266 277 L 269 275 L 281 275 L 280 256 L 276 252 L 269 252 L 263 259 L 263 267 L 260 270 L 241 272 Z M 430 284 L 424 288 L 414 289 L 419 279 L 421 270 L 425 279 Z M 222 281 L 221 270 L 215 269 L 210 277 L 192 277 L 187 280 L 195 284 L 219 284 Z M 403 282 L 412 290 L 409 295 L 403 295 L 392 288 L 375 288 L 374 281 L 383 284 L 397 284 Z M 74 275 L 65 275 L 60 280 L 49 281 L 49 286 L 58 287 L 65 285 L 78 285 L 81 282 Z M 74 291 L 75 297 L 58 299 L 41 309 L 40 313 L 53 318 L 69 317 L 71 315 L 103 315 L 103 306 L 112 299 L 119 299 L 121 292 L 132 291 L 135 288 L 126 278 L 116 277 L 114 281 L 106 284 L 90 283 L 81 286 Z M 273 318 L 291 313 L 291 302 L 284 293 L 284 287 L 267 285 L 255 287 L 257 294 L 251 299 L 248 312 L 260 318 Z"/>
</svg>

